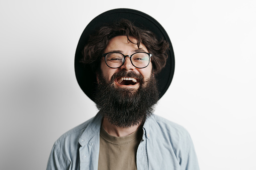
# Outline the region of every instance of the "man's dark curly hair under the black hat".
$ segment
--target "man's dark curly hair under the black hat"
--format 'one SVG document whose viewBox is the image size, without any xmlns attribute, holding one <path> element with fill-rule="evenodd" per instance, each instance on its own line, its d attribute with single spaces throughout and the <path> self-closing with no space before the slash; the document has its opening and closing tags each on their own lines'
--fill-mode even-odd
<svg viewBox="0 0 256 170">
<path fill-rule="evenodd" d="M 133 25 L 129 20 L 122 19 L 112 25 L 105 25 L 94 35 L 90 36 L 87 45 L 83 49 L 83 58 L 81 62 L 90 64 L 93 71 L 99 71 L 100 61 L 104 50 L 109 44 L 109 41 L 117 36 L 126 36 L 128 41 L 129 37 L 137 39 L 138 48 L 142 43 L 152 54 L 153 72 L 159 73 L 165 66 L 167 50 L 169 49 L 168 43 L 160 39 L 158 40 L 154 33 L 148 30 L 143 30 Z M 131 42 L 132 43 L 132 42 Z"/>
</svg>

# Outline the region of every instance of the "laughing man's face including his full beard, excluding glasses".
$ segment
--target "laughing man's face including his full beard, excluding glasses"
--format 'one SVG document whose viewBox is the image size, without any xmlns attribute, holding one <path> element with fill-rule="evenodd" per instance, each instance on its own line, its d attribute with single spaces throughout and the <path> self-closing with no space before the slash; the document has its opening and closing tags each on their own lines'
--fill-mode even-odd
<svg viewBox="0 0 256 170">
<path fill-rule="evenodd" d="M 134 38 L 130 40 L 136 43 Z M 132 55 L 135 52 L 148 52 L 143 44 L 138 46 L 127 41 L 126 36 L 118 36 L 110 40 L 105 53 L 120 52 L 124 55 Z M 101 73 L 98 73 L 98 86 L 95 91 L 95 103 L 103 117 L 117 126 L 128 128 L 146 121 L 153 112 L 154 105 L 158 101 L 157 82 L 151 73 L 152 63 L 145 68 L 136 68 L 127 57 L 120 68 L 110 68 L 101 61 Z M 120 78 L 135 78 L 120 81 Z M 134 79 L 133 79 L 134 80 Z"/>
</svg>

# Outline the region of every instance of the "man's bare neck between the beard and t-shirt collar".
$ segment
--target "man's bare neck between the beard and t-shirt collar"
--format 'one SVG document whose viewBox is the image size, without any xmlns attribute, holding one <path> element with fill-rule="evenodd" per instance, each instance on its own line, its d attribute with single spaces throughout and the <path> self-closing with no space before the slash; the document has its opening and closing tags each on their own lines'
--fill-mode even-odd
<svg viewBox="0 0 256 170">
<path fill-rule="evenodd" d="M 111 124 L 107 119 L 103 118 L 102 126 L 110 135 L 121 137 L 121 136 L 128 136 L 133 132 L 135 132 L 139 128 L 140 124 L 131 126 L 128 128 L 123 128 L 123 127 L 117 127 Z"/>
</svg>

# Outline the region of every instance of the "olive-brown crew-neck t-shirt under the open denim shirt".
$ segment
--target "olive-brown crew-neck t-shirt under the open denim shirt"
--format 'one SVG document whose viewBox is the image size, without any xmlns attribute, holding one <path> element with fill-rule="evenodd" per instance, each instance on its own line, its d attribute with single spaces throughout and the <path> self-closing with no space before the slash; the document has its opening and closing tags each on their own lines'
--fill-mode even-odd
<svg viewBox="0 0 256 170">
<path fill-rule="evenodd" d="M 142 127 L 128 136 L 111 136 L 101 126 L 99 170 L 134 170 L 136 166 L 136 153 L 142 139 Z"/>
</svg>

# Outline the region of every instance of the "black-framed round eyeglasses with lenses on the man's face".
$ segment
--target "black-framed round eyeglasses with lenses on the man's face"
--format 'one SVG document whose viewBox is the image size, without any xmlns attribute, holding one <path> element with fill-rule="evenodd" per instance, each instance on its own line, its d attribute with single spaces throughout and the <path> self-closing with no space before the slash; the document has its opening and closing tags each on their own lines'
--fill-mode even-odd
<svg viewBox="0 0 256 170">
<path fill-rule="evenodd" d="M 138 52 L 129 56 L 123 55 L 119 52 L 110 52 L 103 54 L 103 57 L 105 57 L 105 62 L 110 68 L 121 67 L 124 64 L 126 57 L 130 58 L 131 63 L 134 67 L 145 68 L 149 65 L 152 54 L 146 52 Z"/>
</svg>

